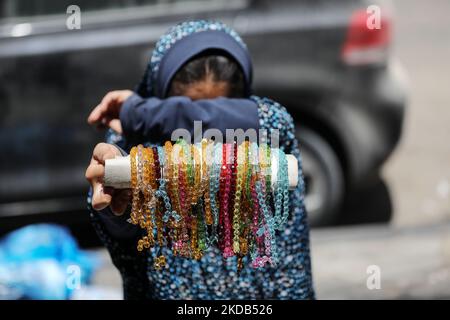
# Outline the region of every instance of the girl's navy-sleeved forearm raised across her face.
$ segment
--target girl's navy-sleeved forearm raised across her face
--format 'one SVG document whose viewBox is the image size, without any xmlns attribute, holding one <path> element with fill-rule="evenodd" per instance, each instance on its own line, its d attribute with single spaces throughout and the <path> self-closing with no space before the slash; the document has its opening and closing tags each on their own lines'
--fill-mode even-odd
<svg viewBox="0 0 450 320">
<path fill-rule="evenodd" d="M 186 129 L 193 137 L 194 121 L 202 122 L 203 132 L 218 129 L 224 137 L 226 129 L 258 129 L 257 108 L 250 99 L 191 100 L 184 96 L 159 99 L 133 94 L 123 103 L 119 116 L 127 142 L 134 145 L 171 140 L 176 129 Z"/>
</svg>

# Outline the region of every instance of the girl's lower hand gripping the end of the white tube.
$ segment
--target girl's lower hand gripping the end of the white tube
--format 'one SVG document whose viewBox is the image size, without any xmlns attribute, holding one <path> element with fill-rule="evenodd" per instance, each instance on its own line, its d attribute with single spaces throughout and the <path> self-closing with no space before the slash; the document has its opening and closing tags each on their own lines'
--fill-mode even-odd
<svg viewBox="0 0 450 320">
<path fill-rule="evenodd" d="M 92 153 L 91 163 L 86 169 L 86 179 L 92 186 L 92 207 L 102 210 L 107 206 L 116 215 L 122 215 L 131 199 L 131 190 L 118 190 L 103 187 L 105 160 L 121 156 L 119 149 L 112 144 L 99 143 Z"/>
</svg>

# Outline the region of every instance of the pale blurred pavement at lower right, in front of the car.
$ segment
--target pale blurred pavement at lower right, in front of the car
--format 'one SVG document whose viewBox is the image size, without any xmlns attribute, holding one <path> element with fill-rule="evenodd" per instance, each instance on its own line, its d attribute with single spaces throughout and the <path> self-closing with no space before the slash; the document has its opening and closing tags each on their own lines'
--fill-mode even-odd
<svg viewBox="0 0 450 320">
<path fill-rule="evenodd" d="M 315 230 L 311 241 L 319 299 L 450 299 L 449 223 Z M 367 287 L 369 266 L 380 289 Z"/>
</svg>

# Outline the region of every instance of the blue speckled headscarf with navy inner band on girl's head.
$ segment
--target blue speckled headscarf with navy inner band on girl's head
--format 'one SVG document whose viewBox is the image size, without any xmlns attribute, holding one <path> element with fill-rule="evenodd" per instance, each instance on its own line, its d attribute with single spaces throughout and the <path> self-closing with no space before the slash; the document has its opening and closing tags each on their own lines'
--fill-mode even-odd
<svg viewBox="0 0 450 320">
<path fill-rule="evenodd" d="M 166 98 L 175 73 L 206 50 L 220 50 L 236 60 L 244 73 L 245 93 L 250 96 L 252 63 L 245 43 L 224 23 L 208 20 L 179 23 L 161 36 L 136 92 L 142 97 Z"/>
</svg>

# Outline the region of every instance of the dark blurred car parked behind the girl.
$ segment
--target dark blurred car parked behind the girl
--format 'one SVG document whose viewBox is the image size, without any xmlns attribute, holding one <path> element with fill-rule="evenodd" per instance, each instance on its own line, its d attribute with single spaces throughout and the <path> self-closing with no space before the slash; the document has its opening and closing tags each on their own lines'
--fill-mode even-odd
<svg viewBox="0 0 450 320">
<path fill-rule="evenodd" d="M 399 140 L 405 91 L 389 2 L 372 30 L 374 1 L 79 0 L 81 29 L 69 30 L 71 2 L 0 4 L 2 230 L 40 218 L 86 222 L 84 171 L 103 140 L 86 117 L 107 91 L 133 88 L 158 37 L 186 19 L 234 27 L 253 57 L 256 93 L 295 118 L 313 225 L 335 222 Z"/>
</svg>

